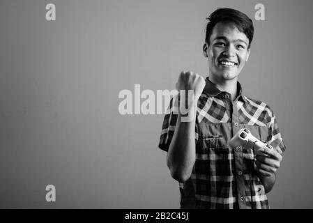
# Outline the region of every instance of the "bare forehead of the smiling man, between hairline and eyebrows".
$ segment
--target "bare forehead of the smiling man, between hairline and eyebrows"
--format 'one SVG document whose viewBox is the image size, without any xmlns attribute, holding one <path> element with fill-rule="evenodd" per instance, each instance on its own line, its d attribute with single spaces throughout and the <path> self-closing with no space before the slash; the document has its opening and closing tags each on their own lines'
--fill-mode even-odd
<svg viewBox="0 0 313 223">
<path fill-rule="evenodd" d="M 243 40 L 245 43 L 249 43 L 249 39 L 245 36 L 245 33 L 239 31 L 234 22 L 217 22 L 211 33 L 211 40 L 215 38 L 231 38 L 231 40 Z"/>
</svg>

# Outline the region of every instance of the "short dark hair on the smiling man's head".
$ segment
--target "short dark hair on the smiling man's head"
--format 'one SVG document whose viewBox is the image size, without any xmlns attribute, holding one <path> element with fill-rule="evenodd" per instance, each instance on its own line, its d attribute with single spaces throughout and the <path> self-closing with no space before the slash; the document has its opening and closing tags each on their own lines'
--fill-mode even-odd
<svg viewBox="0 0 313 223">
<path fill-rule="evenodd" d="M 242 33 L 245 33 L 245 36 L 249 39 L 248 48 L 250 48 L 253 39 L 254 26 L 252 20 L 247 17 L 245 13 L 241 13 L 241 11 L 233 8 L 218 8 L 211 13 L 206 20 L 208 20 L 208 24 L 206 25 L 206 43 L 208 45 L 210 45 L 210 37 L 217 22 L 234 22 L 237 29 Z"/>
</svg>

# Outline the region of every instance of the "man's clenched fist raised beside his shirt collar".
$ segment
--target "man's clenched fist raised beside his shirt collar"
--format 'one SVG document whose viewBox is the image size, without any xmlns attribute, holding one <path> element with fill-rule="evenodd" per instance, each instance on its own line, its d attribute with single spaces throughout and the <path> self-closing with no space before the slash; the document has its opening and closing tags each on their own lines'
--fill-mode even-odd
<svg viewBox="0 0 313 223">
<path fill-rule="evenodd" d="M 176 83 L 176 89 L 178 91 L 193 90 L 195 100 L 198 100 L 200 98 L 201 93 L 204 90 L 204 86 L 206 86 L 206 81 L 204 80 L 204 78 L 201 75 L 198 75 L 197 73 L 194 73 L 192 71 L 182 71 Z"/>
</svg>

